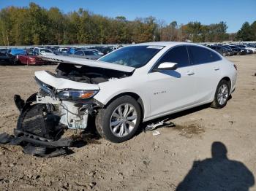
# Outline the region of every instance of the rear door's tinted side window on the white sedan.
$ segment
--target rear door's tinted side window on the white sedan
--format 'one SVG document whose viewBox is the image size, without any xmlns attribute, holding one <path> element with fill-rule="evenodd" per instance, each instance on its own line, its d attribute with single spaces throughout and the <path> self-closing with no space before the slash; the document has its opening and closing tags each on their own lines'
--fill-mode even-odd
<svg viewBox="0 0 256 191">
<path fill-rule="evenodd" d="M 221 60 L 219 55 L 204 47 L 189 46 L 189 58 L 192 64 L 211 63 Z"/>
</svg>

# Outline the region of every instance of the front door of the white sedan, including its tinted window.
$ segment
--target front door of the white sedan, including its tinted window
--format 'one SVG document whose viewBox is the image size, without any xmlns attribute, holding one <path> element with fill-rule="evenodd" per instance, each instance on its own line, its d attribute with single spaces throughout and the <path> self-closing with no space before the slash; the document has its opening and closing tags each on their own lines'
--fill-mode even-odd
<svg viewBox="0 0 256 191">
<path fill-rule="evenodd" d="M 195 71 L 189 63 L 187 46 L 171 48 L 157 61 L 155 67 L 164 62 L 177 63 L 177 69 L 153 69 L 148 73 L 146 85 L 151 99 L 151 114 L 148 117 L 191 106 L 195 100 Z"/>
</svg>

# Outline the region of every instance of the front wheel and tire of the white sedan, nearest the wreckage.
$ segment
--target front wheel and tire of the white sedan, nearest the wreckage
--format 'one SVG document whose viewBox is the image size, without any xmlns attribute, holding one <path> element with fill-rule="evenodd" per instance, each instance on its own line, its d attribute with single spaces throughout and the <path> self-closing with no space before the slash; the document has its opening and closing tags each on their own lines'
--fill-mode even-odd
<svg viewBox="0 0 256 191">
<path fill-rule="evenodd" d="M 130 96 L 122 96 L 112 101 L 105 109 L 99 109 L 95 126 L 102 138 L 121 143 L 134 136 L 140 121 L 141 109 L 138 102 Z"/>
</svg>

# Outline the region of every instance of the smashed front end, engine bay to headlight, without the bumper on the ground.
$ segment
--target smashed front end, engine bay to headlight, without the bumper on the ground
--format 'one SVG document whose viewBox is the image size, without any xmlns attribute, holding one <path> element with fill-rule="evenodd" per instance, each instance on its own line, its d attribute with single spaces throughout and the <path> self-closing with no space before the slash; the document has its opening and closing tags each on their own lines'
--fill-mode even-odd
<svg viewBox="0 0 256 191">
<path fill-rule="evenodd" d="M 132 75 L 131 70 L 113 70 L 94 66 L 80 66 L 60 63 L 53 74 L 49 71 L 36 71 L 35 79 L 39 93 L 35 104 L 46 104 L 48 112 L 60 117 L 59 123 L 70 129 L 85 129 L 89 116 L 94 116 L 102 104 L 94 99 L 99 83 L 117 80 Z M 124 71 L 122 71 L 124 70 Z"/>
</svg>

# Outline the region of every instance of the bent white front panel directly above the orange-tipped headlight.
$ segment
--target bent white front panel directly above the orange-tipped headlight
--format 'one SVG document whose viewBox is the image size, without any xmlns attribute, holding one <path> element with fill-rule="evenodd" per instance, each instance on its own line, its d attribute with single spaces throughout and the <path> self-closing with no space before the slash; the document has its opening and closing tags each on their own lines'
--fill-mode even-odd
<svg viewBox="0 0 256 191">
<path fill-rule="evenodd" d="M 49 74 L 47 71 L 36 71 L 34 73 L 36 79 L 40 82 L 50 85 L 57 90 L 64 89 L 75 89 L 75 90 L 99 90 L 98 85 L 87 84 L 82 82 L 74 82 L 69 79 L 54 77 L 52 74 Z"/>
</svg>

